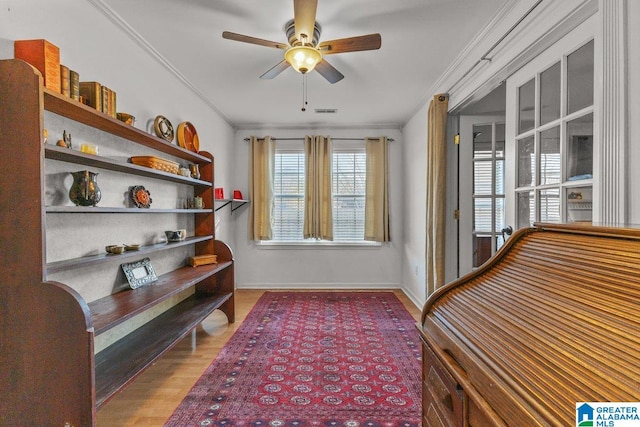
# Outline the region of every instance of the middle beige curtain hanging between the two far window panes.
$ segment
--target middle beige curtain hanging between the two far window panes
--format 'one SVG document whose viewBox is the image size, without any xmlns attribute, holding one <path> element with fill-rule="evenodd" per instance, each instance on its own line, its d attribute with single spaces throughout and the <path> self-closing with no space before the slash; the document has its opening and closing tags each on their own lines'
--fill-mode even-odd
<svg viewBox="0 0 640 427">
<path fill-rule="evenodd" d="M 333 240 L 331 138 L 305 136 L 304 238 Z"/>
</svg>

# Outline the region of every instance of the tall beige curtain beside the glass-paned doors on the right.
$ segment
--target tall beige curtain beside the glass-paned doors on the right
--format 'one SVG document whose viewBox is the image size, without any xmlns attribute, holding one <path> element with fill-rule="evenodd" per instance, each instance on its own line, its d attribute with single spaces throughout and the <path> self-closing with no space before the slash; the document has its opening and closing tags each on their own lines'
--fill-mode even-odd
<svg viewBox="0 0 640 427">
<path fill-rule="evenodd" d="M 435 95 L 429 104 L 427 140 L 427 296 L 444 285 L 445 274 L 445 207 L 447 171 L 446 94 Z"/>
</svg>

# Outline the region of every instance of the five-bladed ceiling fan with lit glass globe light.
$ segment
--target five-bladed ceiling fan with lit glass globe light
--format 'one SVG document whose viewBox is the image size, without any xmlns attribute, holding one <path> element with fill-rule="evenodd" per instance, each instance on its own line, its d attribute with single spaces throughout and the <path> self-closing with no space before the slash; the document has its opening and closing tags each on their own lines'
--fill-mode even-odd
<svg viewBox="0 0 640 427">
<path fill-rule="evenodd" d="M 287 68 L 293 67 L 302 74 L 315 69 L 330 83 L 336 83 L 344 76 L 324 59 L 325 55 L 380 49 L 382 38 L 376 33 L 318 43 L 321 27 L 316 22 L 317 6 L 318 0 L 293 0 L 294 18 L 285 24 L 285 34 L 289 44 L 229 31 L 224 31 L 222 37 L 285 51 L 284 59 L 261 75 L 261 79 L 272 79 Z"/>
</svg>

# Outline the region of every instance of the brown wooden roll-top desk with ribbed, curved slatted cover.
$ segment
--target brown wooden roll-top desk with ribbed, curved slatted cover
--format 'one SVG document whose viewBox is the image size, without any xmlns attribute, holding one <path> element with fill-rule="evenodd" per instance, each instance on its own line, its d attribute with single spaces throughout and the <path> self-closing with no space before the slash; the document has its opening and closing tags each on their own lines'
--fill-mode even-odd
<svg viewBox="0 0 640 427">
<path fill-rule="evenodd" d="M 537 224 L 429 297 L 423 425 L 571 426 L 640 401 L 640 229 Z"/>
</svg>

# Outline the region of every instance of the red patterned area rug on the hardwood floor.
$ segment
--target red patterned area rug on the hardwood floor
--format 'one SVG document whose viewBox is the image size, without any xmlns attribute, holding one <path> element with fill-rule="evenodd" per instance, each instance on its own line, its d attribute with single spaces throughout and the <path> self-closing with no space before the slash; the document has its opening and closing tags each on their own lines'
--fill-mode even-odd
<svg viewBox="0 0 640 427">
<path fill-rule="evenodd" d="M 420 426 L 415 320 L 392 292 L 267 292 L 167 426 Z"/>
</svg>

